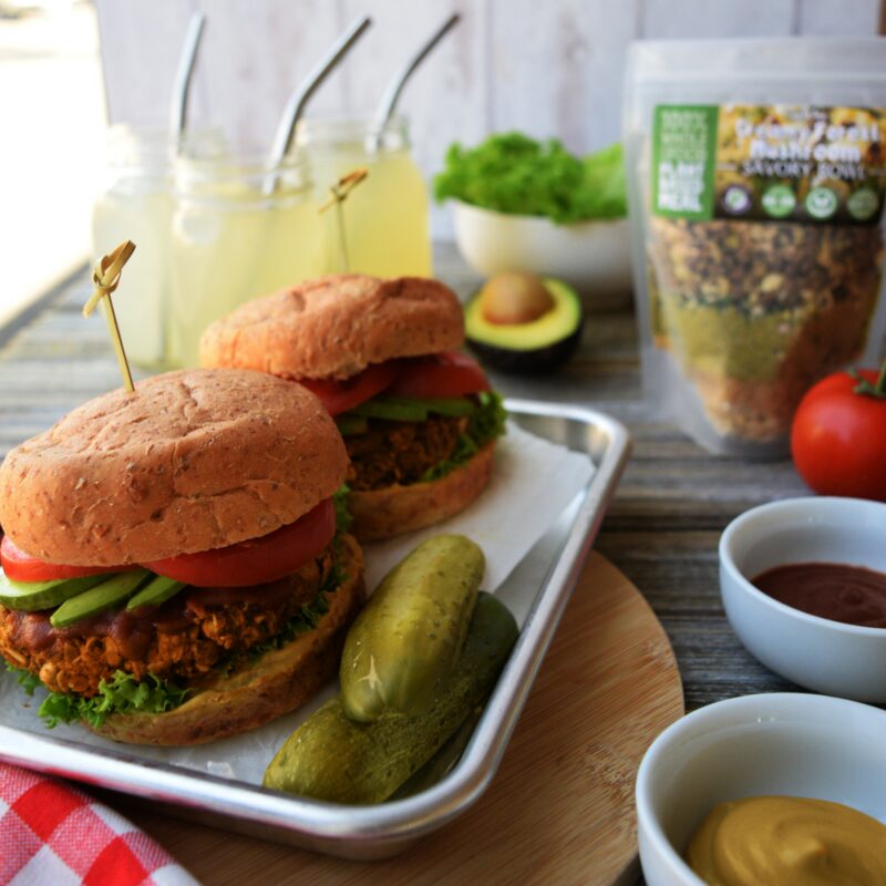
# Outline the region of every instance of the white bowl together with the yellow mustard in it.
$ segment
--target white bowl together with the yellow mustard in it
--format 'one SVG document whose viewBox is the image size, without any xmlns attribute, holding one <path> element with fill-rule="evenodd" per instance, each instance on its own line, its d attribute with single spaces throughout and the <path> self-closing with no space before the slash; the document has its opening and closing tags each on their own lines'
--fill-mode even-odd
<svg viewBox="0 0 886 886">
<path fill-rule="evenodd" d="M 766 693 L 701 708 L 637 774 L 649 886 L 886 883 L 886 712 Z"/>
</svg>

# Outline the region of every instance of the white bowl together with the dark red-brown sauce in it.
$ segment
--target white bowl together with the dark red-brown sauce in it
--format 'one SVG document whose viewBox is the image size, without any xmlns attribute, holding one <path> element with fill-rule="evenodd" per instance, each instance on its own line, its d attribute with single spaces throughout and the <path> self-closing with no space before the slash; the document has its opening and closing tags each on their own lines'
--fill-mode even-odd
<svg viewBox="0 0 886 886">
<path fill-rule="evenodd" d="M 886 504 L 786 498 L 720 538 L 720 593 L 748 650 L 799 686 L 886 702 Z"/>
</svg>

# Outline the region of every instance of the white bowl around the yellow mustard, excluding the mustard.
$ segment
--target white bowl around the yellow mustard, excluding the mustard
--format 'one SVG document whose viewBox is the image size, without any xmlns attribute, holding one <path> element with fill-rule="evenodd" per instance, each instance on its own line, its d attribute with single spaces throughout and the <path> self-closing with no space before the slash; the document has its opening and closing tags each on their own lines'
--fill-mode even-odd
<svg viewBox="0 0 886 886">
<path fill-rule="evenodd" d="M 886 821 L 884 742 L 886 712 L 826 696 L 744 696 L 678 720 L 652 742 L 637 773 L 647 883 L 703 886 L 681 856 L 727 800 L 815 797 Z"/>
</svg>

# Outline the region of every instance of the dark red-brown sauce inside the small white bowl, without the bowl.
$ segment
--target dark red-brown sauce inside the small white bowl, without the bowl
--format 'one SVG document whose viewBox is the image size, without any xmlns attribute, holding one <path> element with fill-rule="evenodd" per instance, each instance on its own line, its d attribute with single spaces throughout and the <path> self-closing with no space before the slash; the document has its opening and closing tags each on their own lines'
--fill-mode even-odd
<svg viewBox="0 0 886 886">
<path fill-rule="evenodd" d="M 886 573 L 839 563 L 796 563 L 766 569 L 752 584 L 801 612 L 886 628 Z"/>
</svg>

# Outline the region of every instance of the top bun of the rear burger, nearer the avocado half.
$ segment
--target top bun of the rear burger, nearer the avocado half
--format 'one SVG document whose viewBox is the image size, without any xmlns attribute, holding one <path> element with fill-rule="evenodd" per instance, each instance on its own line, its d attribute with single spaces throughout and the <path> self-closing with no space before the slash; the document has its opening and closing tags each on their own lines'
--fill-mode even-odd
<svg viewBox="0 0 886 886">
<path fill-rule="evenodd" d="M 344 274 L 254 299 L 217 320 L 200 339 L 200 363 L 289 379 L 346 379 L 370 363 L 463 341 L 462 309 L 444 284 Z"/>
</svg>

